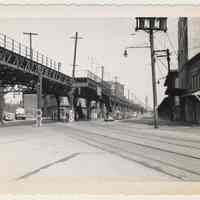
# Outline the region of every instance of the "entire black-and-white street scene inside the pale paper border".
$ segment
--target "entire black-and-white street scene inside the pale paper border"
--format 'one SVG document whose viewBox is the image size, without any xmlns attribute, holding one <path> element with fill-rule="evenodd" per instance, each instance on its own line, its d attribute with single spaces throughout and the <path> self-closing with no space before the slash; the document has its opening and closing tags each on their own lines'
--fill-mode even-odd
<svg viewBox="0 0 200 200">
<path fill-rule="evenodd" d="M 200 181 L 200 18 L 0 24 L 2 182 Z"/>
</svg>

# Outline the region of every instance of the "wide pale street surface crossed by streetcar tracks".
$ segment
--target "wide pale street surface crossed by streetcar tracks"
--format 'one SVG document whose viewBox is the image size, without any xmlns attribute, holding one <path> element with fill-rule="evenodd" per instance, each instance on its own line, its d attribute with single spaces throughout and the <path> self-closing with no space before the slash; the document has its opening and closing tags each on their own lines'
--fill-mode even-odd
<svg viewBox="0 0 200 200">
<path fill-rule="evenodd" d="M 153 129 L 135 121 L 47 123 L 0 128 L 0 177 L 131 177 L 199 181 L 198 128 Z"/>
</svg>

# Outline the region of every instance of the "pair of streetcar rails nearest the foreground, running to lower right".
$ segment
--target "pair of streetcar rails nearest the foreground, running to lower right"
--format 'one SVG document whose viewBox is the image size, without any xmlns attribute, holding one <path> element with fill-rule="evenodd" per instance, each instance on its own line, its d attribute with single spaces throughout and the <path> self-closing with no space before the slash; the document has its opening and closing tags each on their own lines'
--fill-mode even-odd
<svg viewBox="0 0 200 200">
<path fill-rule="evenodd" d="M 77 131 L 77 130 L 74 129 L 74 131 Z M 84 132 L 85 132 L 86 134 L 88 134 L 86 131 L 84 131 Z M 85 133 L 84 133 L 84 134 L 85 134 Z M 67 133 L 67 135 L 69 136 L 69 133 Z M 162 173 L 164 173 L 164 174 L 170 175 L 170 176 L 172 176 L 172 177 L 175 177 L 175 178 L 178 178 L 178 179 L 181 179 L 181 180 L 183 180 L 183 176 L 174 175 L 173 173 L 166 172 L 166 170 L 161 169 L 159 166 L 151 166 L 149 163 L 147 163 L 147 162 L 145 162 L 145 161 L 138 161 L 137 159 L 133 159 L 133 158 L 130 158 L 130 157 L 128 157 L 128 156 L 122 155 L 119 151 L 122 151 L 122 152 L 125 152 L 125 153 L 129 153 L 129 154 L 133 154 L 133 155 L 136 155 L 136 156 L 138 156 L 138 157 L 142 157 L 142 158 L 144 158 L 144 159 L 147 159 L 147 160 L 150 160 L 150 161 L 154 161 L 154 162 L 156 162 L 156 163 L 160 163 L 160 164 L 165 165 L 165 166 L 167 165 L 167 166 L 172 167 L 172 168 L 174 168 L 174 169 L 182 170 L 182 171 L 184 171 L 184 172 L 187 172 L 187 173 L 190 173 L 190 174 L 193 174 L 193 175 L 200 176 L 200 173 L 198 173 L 198 172 L 196 172 L 196 171 L 193 171 L 193 170 L 190 170 L 190 169 L 187 169 L 187 168 L 183 168 L 183 167 L 180 167 L 180 166 L 176 166 L 176 165 L 174 165 L 174 164 L 171 164 L 171 163 L 164 162 L 164 161 L 162 161 L 162 160 L 158 160 L 158 159 L 155 159 L 155 158 L 151 158 L 151 157 L 148 157 L 148 156 L 144 156 L 143 154 L 139 154 L 139 153 L 135 153 L 135 152 L 130 152 L 130 151 L 127 151 L 127 150 L 125 150 L 125 149 L 123 149 L 123 148 L 119 148 L 119 147 L 114 146 L 114 145 L 111 145 L 111 144 L 107 144 L 107 143 L 104 143 L 104 142 L 99 142 L 99 141 L 96 140 L 96 139 L 92 139 L 92 138 L 87 137 L 87 136 L 85 136 L 85 135 L 83 135 L 83 134 L 78 134 L 77 132 L 76 132 L 76 135 L 78 136 L 78 138 L 75 137 L 74 135 L 71 135 L 71 137 L 72 137 L 72 138 L 75 138 L 76 140 L 82 141 L 82 142 L 84 142 L 84 143 L 86 143 L 86 144 L 88 144 L 88 145 L 92 145 L 92 146 L 94 146 L 94 147 L 100 148 L 101 150 L 108 151 L 108 152 L 110 152 L 110 153 L 114 153 L 114 154 L 116 154 L 116 155 L 118 155 L 118 156 L 120 156 L 120 157 L 123 157 L 123 158 L 125 158 L 125 159 L 131 160 L 131 161 L 134 161 L 134 162 L 137 162 L 137 163 L 139 163 L 139 164 L 141 164 L 141 165 L 143 165 L 143 166 L 145 166 L 145 167 L 154 169 L 154 170 L 156 170 L 156 171 L 162 172 Z M 90 134 L 90 135 L 91 135 L 91 134 Z M 86 139 L 86 140 L 89 140 L 90 142 L 93 141 L 93 142 L 97 143 L 98 145 L 107 146 L 107 148 L 111 147 L 111 148 L 113 148 L 113 149 L 115 149 L 115 150 L 118 150 L 118 152 L 113 151 L 113 150 L 110 150 L 110 149 L 104 149 L 104 148 L 101 147 L 101 146 L 91 144 L 91 143 L 88 142 L 88 141 L 85 141 L 85 140 L 83 140 L 83 139 L 81 140 L 80 137 L 81 137 L 81 138 L 84 138 L 84 139 Z M 158 169 L 160 169 L 160 170 L 158 170 Z"/>
</svg>

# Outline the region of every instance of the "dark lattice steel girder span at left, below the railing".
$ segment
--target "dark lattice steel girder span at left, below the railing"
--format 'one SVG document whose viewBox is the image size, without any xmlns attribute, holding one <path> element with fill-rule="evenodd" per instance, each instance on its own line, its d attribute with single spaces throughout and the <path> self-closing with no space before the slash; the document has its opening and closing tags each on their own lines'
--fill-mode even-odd
<svg viewBox="0 0 200 200">
<path fill-rule="evenodd" d="M 0 47 L 0 79 L 5 84 L 35 87 L 39 74 L 43 78 L 44 92 L 66 94 L 70 90 L 69 76 Z"/>
</svg>

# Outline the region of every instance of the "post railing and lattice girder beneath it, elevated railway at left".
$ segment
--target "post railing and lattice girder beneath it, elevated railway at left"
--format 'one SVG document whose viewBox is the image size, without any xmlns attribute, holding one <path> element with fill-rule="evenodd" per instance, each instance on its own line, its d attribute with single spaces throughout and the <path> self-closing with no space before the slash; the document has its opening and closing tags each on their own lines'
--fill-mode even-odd
<svg viewBox="0 0 200 200">
<path fill-rule="evenodd" d="M 2 33 L 0 33 L 0 49 L 0 62 L 3 62 L 3 64 L 8 64 L 13 69 L 28 72 L 33 76 L 41 74 L 43 78 L 49 81 L 71 85 L 71 77 L 60 72 L 60 62 L 56 62 L 34 49 L 30 51 L 30 48 L 26 45 Z"/>
</svg>

